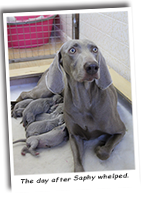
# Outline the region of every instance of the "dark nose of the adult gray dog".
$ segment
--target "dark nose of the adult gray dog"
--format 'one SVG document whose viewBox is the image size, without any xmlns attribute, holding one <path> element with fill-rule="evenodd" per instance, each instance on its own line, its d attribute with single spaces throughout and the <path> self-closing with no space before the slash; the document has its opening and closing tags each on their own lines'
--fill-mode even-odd
<svg viewBox="0 0 143 200">
<path fill-rule="evenodd" d="M 92 63 L 87 62 L 84 65 L 85 71 L 90 75 L 96 74 L 97 71 L 98 71 L 98 68 L 99 67 L 98 67 L 98 64 L 96 62 L 92 62 Z"/>
</svg>

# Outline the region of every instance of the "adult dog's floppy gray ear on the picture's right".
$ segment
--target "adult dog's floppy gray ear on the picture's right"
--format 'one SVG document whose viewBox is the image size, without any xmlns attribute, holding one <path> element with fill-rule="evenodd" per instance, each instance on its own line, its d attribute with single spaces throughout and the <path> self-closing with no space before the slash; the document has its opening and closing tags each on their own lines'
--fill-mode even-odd
<svg viewBox="0 0 143 200">
<path fill-rule="evenodd" d="M 99 51 L 98 64 L 99 64 L 99 70 L 100 70 L 99 71 L 100 78 L 96 79 L 96 84 L 100 89 L 105 90 L 112 84 L 112 79 L 111 79 L 108 67 L 106 65 L 106 61 L 100 51 Z"/>
</svg>

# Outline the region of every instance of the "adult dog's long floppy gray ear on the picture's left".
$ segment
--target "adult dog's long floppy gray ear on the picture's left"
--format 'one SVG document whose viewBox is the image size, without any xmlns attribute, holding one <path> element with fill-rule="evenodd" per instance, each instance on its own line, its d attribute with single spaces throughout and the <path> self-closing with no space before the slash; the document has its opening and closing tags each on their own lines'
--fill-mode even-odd
<svg viewBox="0 0 143 200">
<path fill-rule="evenodd" d="M 64 89 L 64 75 L 60 66 L 61 48 L 57 52 L 49 71 L 45 76 L 47 88 L 54 94 L 60 94 Z"/>
</svg>

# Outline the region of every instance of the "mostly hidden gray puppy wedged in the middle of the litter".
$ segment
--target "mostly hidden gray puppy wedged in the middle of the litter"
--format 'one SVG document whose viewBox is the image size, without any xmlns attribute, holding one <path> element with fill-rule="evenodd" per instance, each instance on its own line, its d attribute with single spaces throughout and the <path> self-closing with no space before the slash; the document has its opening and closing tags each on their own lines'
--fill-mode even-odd
<svg viewBox="0 0 143 200">
<path fill-rule="evenodd" d="M 60 103 L 52 113 L 42 113 L 36 116 L 35 121 L 54 119 L 63 113 L 63 103 Z"/>
</svg>

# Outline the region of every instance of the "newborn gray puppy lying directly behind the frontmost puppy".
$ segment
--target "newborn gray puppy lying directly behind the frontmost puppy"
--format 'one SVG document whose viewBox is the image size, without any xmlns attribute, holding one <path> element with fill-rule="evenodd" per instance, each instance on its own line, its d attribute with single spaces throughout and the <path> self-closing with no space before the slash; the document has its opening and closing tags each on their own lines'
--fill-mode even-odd
<svg viewBox="0 0 143 200">
<path fill-rule="evenodd" d="M 40 135 L 42 133 L 46 133 L 63 123 L 64 123 L 63 114 L 59 115 L 55 119 L 51 119 L 48 121 L 45 120 L 45 121 L 33 122 L 28 126 L 26 130 L 26 137 L 28 138 L 33 135 Z"/>
</svg>

